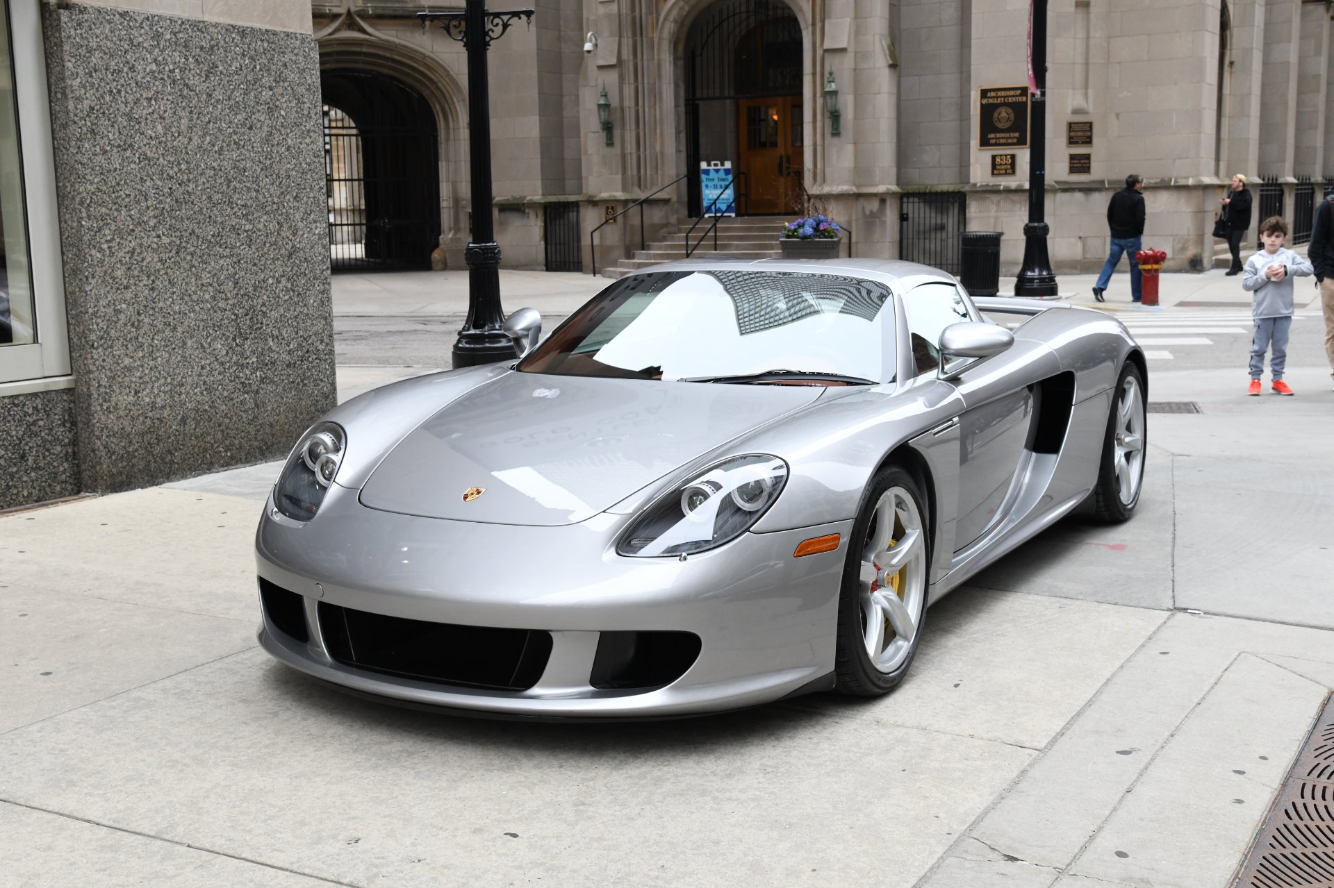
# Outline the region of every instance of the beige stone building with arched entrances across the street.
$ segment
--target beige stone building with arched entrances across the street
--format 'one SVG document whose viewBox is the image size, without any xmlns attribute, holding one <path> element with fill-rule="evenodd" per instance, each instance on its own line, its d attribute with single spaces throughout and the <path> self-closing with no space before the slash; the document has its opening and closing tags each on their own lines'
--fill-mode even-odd
<svg viewBox="0 0 1334 888">
<path fill-rule="evenodd" d="M 646 204 L 643 235 L 638 209 L 596 233 L 600 269 L 642 236 L 688 224 L 700 211 L 699 163 L 727 161 L 742 215 L 794 213 L 808 195 L 852 229 L 858 256 L 946 267 L 958 263 L 964 228 L 1000 231 L 1003 268 L 1018 268 L 1027 105 L 998 133 L 982 103 L 1027 83 L 1026 0 L 531 5 L 531 27 L 515 25 L 490 51 L 506 267 L 591 271 L 594 225 L 663 188 Z M 396 116 L 364 135 L 380 172 L 439 193 L 439 219 L 418 205 L 412 221 L 366 165 L 356 187 L 382 204 L 335 213 L 335 237 L 360 257 L 350 264 L 424 267 L 420 241 L 435 236 L 450 267 L 462 267 L 464 52 L 440 28 L 420 27 L 422 8 L 312 4 L 325 103 L 354 121 L 350 103 L 378 115 L 394 105 Z M 1257 203 L 1309 229 L 1313 199 L 1334 181 L 1330 13 L 1327 0 L 1051 0 L 1046 212 L 1055 271 L 1101 265 L 1107 199 L 1130 172 L 1146 180 L 1146 245 L 1166 249 L 1173 269 L 1213 264 L 1217 200 L 1234 172 L 1265 179 Z M 331 124 L 329 144 L 346 132 Z M 394 132 L 411 132 L 414 144 L 434 137 L 435 156 L 419 145 L 400 164 Z"/>
</svg>

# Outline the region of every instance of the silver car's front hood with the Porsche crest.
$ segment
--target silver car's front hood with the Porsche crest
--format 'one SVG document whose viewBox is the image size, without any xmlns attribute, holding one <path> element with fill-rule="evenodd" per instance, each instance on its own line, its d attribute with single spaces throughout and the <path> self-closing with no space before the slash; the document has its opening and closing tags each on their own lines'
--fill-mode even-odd
<svg viewBox="0 0 1334 888">
<path fill-rule="evenodd" d="M 424 517 L 574 524 L 823 392 L 506 373 L 410 432 L 360 501 Z"/>
</svg>

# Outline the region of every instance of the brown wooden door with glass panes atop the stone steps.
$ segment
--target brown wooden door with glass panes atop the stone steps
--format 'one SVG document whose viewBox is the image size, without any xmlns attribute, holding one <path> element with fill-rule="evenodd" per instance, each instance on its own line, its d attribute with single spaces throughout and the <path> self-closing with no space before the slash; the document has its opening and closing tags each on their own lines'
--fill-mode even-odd
<svg viewBox="0 0 1334 888">
<path fill-rule="evenodd" d="M 746 193 L 740 208 L 752 215 L 798 212 L 804 141 L 802 100 L 798 96 L 742 99 L 736 112 L 738 156 L 744 173 L 738 193 Z"/>
</svg>

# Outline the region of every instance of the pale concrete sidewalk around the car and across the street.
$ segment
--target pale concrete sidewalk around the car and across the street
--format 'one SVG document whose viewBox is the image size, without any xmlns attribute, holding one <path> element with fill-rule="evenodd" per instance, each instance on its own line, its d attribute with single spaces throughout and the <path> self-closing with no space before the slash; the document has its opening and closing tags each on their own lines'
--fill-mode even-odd
<svg viewBox="0 0 1334 888">
<path fill-rule="evenodd" d="M 1162 311 L 1235 281 L 1167 275 Z M 334 283 L 336 320 L 466 307 L 463 273 Z M 502 273 L 552 320 L 606 283 Z M 344 364 L 340 397 L 428 369 Z M 1153 369 L 1202 412 L 1150 417 L 1135 519 L 978 575 L 871 701 L 550 725 L 343 696 L 255 647 L 277 464 L 0 516 L 0 885 L 1223 888 L 1334 689 L 1334 411 L 1235 376 Z"/>
</svg>

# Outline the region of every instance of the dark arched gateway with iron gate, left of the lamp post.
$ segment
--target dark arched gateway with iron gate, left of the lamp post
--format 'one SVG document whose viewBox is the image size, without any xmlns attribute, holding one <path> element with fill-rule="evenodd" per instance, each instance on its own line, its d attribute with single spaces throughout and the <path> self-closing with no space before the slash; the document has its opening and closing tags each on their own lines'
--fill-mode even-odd
<svg viewBox="0 0 1334 888">
<path fill-rule="evenodd" d="M 411 87 L 323 71 L 329 268 L 430 268 L 440 240 L 435 113 Z"/>
</svg>

